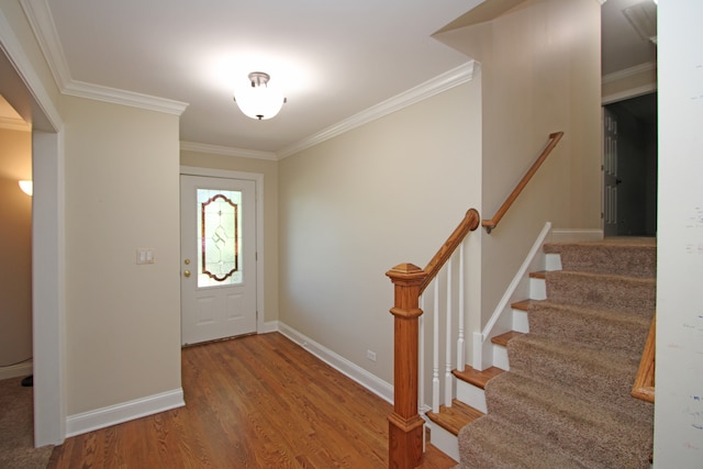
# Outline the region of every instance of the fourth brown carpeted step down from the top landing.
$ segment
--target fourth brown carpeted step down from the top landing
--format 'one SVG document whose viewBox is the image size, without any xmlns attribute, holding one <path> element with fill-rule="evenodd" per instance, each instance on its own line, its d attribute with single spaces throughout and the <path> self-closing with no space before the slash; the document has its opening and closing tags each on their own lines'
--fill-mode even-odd
<svg viewBox="0 0 703 469">
<path fill-rule="evenodd" d="M 526 334 L 507 346 L 511 373 L 562 389 L 590 404 L 651 422 L 651 405 L 631 395 L 639 356 Z"/>
</svg>

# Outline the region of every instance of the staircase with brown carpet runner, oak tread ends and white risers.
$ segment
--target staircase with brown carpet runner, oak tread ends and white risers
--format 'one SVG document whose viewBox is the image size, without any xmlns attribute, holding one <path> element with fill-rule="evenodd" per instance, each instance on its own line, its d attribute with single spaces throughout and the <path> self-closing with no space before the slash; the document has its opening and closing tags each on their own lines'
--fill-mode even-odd
<svg viewBox="0 0 703 469">
<path fill-rule="evenodd" d="M 459 399 L 428 417 L 458 435 L 459 468 L 648 468 L 654 406 L 631 390 L 655 313 L 656 241 L 544 250 L 561 264 L 532 276 L 546 299 L 513 304 L 529 332 L 494 337 L 505 362 L 494 353 L 498 366 L 455 371 Z"/>
</svg>

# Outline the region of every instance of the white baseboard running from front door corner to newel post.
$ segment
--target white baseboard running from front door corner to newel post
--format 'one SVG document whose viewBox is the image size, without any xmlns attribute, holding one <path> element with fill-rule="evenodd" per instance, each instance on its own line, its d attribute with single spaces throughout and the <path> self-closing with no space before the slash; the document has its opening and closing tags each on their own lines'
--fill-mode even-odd
<svg viewBox="0 0 703 469">
<path fill-rule="evenodd" d="M 317 344 L 315 340 L 306 337 L 287 324 L 278 322 L 278 332 L 293 340 L 295 344 L 320 358 L 332 368 L 343 375 L 352 378 L 379 398 L 389 403 L 393 403 L 393 387 L 375 375 L 371 375 L 358 365 L 353 364 L 343 356 L 332 351 L 331 349 Z"/>
</svg>

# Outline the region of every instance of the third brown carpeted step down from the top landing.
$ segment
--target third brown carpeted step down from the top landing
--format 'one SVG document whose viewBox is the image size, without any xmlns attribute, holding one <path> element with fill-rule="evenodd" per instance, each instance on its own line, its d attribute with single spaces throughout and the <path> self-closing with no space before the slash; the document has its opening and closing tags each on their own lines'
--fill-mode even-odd
<svg viewBox="0 0 703 469">
<path fill-rule="evenodd" d="M 639 355 L 651 323 L 651 316 L 643 314 L 549 300 L 533 301 L 527 311 L 531 334 Z"/>
</svg>

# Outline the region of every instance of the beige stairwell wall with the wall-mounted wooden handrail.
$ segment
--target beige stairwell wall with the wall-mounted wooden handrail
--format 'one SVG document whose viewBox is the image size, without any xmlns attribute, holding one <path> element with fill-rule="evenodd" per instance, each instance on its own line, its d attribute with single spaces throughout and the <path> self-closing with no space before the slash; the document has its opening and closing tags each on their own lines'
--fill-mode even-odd
<svg viewBox="0 0 703 469">
<path fill-rule="evenodd" d="M 546 222 L 600 228 L 600 4 L 528 0 L 438 38 L 481 62 L 482 216 L 493 216 L 551 132 L 565 137 L 481 238 L 482 323 Z"/>
</svg>

